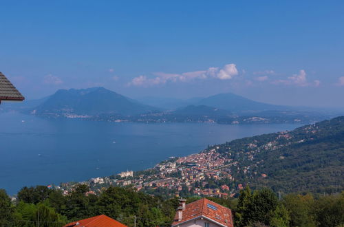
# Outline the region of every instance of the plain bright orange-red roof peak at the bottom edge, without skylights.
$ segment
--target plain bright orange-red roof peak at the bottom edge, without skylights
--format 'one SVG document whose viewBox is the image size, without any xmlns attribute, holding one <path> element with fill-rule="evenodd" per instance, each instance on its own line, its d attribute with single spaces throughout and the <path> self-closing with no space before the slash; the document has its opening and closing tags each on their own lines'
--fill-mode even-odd
<svg viewBox="0 0 344 227">
<path fill-rule="evenodd" d="M 80 221 L 71 222 L 63 227 L 72 227 L 72 226 L 85 226 L 85 227 L 127 227 L 124 224 L 107 217 L 107 215 L 98 215 L 94 217 L 89 217 Z"/>
</svg>

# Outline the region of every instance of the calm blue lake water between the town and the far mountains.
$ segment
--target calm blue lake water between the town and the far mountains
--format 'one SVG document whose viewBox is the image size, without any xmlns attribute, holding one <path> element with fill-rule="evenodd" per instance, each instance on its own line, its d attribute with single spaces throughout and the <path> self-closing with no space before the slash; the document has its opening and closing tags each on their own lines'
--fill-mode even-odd
<svg viewBox="0 0 344 227">
<path fill-rule="evenodd" d="M 139 124 L 0 114 L 0 188 L 60 184 L 142 170 L 208 144 L 300 125 Z"/>
</svg>

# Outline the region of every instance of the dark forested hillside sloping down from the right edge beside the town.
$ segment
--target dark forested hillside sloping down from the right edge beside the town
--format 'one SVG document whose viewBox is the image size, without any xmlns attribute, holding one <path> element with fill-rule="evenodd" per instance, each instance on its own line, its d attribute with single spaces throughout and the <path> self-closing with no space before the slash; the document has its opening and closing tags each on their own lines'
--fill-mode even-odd
<svg viewBox="0 0 344 227">
<path fill-rule="evenodd" d="M 237 162 L 231 169 L 237 182 L 254 188 L 331 193 L 344 187 L 344 117 L 214 147 Z"/>
</svg>

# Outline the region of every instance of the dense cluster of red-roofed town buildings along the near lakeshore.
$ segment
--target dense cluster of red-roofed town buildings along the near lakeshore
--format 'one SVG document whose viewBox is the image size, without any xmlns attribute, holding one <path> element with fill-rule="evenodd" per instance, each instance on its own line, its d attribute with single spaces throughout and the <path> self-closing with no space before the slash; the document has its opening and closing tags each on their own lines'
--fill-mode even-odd
<svg viewBox="0 0 344 227">
<path fill-rule="evenodd" d="M 218 149 L 218 147 L 217 147 Z M 87 182 L 68 182 L 60 188 L 67 195 L 76 184 L 87 184 L 91 194 L 100 193 L 108 186 L 130 186 L 137 191 L 153 195 L 186 196 L 201 195 L 213 197 L 233 197 L 235 189 L 242 189 L 242 184 L 234 186 L 234 177 L 230 175 L 230 166 L 237 165 L 230 158 L 224 158 L 215 149 L 192 154 L 182 158 L 165 160 L 145 171 L 125 171 L 111 177 L 96 177 Z M 222 185 L 218 185 L 222 182 Z M 233 184 L 230 184 L 233 183 Z M 167 194 L 165 194 L 167 193 Z"/>
</svg>

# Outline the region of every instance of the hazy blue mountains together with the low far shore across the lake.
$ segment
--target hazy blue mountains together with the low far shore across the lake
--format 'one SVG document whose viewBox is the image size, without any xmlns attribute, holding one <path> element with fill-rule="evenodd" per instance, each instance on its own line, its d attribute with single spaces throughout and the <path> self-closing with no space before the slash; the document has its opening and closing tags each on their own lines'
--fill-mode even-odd
<svg viewBox="0 0 344 227">
<path fill-rule="evenodd" d="M 114 118 L 122 116 L 122 118 L 130 117 L 126 120 L 141 122 L 191 121 L 224 124 L 257 122 L 257 118 L 246 120 L 247 117 L 259 117 L 262 119 L 259 122 L 268 123 L 293 122 L 300 119 L 302 122 L 314 122 L 340 115 L 338 111 L 324 112 L 319 109 L 271 105 L 231 93 L 187 100 L 161 97 L 134 100 L 103 87 L 60 89 L 55 94 L 39 100 L 4 103 L 0 108 L 4 111 L 17 110 L 53 118 L 116 120 Z M 242 119 L 238 120 L 238 116 Z M 288 120 L 285 120 L 287 118 Z"/>
</svg>

